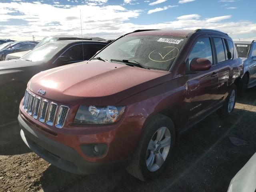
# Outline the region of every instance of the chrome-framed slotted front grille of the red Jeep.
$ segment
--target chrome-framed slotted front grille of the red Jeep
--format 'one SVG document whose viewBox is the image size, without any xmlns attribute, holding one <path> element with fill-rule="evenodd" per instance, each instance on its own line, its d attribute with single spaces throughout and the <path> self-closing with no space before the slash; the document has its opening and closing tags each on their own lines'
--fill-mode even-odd
<svg viewBox="0 0 256 192">
<path fill-rule="evenodd" d="M 57 128 L 64 126 L 69 110 L 67 106 L 63 105 L 58 109 L 56 103 L 33 95 L 28 90 L 25 92 L 22 106 L 30 116 L 33 116 L 34 119 L 38 119 L 40 122 L 46 122 L 46 124 L 53 126 L 55 120 Z"/>
</svg>

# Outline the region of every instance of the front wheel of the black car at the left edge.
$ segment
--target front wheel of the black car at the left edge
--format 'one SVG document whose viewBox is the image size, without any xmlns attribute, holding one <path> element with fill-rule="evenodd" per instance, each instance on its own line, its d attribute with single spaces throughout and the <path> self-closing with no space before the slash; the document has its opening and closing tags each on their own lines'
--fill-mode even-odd
<svg viewBox="0 0 256 192">
<path fill-rule="evenodd" d="M 25 84 L 16 82 L 0 88 L 0 116 L 4 118 L 16 118 L 18 116 L 20 101 L 25 90 Z"/>
</svg>

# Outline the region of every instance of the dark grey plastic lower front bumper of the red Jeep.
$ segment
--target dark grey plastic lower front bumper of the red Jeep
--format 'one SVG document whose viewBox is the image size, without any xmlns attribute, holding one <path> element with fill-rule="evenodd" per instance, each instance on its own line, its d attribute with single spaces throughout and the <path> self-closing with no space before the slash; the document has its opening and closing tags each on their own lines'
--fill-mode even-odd
<svg viewBox="0 0 256 192">
<path fill-rule="evenodd" d="M 56 142 L 40 132 L 36 127 L 25 122 L 18 116 L 21 127 L 20 135 L 25 144 L 49 163 L 75 174 L 94 174 L 99 172 L 109 172 L 126 167 L 129 160 L 119 160 L 118 162 L 88 162 L 73 148 Z"/>
</svg>

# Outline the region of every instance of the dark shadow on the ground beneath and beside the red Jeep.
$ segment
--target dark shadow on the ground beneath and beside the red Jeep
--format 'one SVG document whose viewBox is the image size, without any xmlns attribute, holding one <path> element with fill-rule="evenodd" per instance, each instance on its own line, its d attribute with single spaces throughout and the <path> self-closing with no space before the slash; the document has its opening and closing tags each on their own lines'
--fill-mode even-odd
<svg viewBox="0 0 256 192">
<path fill-rule="evenodd" d="M 250 100 L 242 100 L 247 104 L 254 103 L 256 89 L 250 92 Z M 228 119 L 212 114 L 180 137 L 164 173 L 151 182 L 141 182 L 125 170 L 78 176 L 49 166 L 40 183 L 45 192 L 226 192 L 230 180 L 256 152 L 255 124 L 256 112 L 249 110 L 235 109 Z M 229 136 L 248 145 L 235 146 Z"/>
</svg>

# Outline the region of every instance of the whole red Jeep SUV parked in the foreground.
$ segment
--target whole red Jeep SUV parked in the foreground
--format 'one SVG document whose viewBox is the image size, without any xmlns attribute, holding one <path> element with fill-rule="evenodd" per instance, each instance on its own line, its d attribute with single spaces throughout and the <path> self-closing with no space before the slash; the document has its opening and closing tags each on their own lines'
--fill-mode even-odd
<svg viewBox="0 0 256 192">
<path fill-rule="evenodd" d="M 91 58 L 36 74 L 20 103 L 26 145 L 77 174 L 126 167 L 140 180 L 168 165 L 178 134 L 234 110 L 243 73 L 220 31 L 137 30 Z"/>
</svg>

